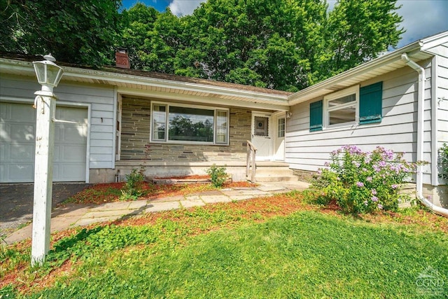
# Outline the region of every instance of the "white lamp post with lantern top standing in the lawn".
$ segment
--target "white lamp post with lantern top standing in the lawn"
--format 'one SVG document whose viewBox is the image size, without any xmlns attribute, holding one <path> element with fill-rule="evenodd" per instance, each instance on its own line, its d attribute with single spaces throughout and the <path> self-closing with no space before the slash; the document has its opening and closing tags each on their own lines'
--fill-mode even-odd
<svg viewBox="0 0 448 299">
<path fill-rule="evenodd" d="M 53 147 L 55 124 L 53 123 L 56 96 L 53 88 L 64 74 L 50 55 L 45 60 L 33 62 L 41 90 L 34 92 L 36 108 L 36 152 L 34 155 L 34 206 L 31 244 L 31 265 L 41 265 L 50 249 L 50 220 L 52 197 Z"/>
</svg>

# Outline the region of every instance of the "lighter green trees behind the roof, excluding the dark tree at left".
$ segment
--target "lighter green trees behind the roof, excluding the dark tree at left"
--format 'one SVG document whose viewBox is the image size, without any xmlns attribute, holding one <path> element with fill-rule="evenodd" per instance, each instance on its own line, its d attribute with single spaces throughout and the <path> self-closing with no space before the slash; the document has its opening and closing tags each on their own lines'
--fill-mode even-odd
<svg viewBox="0 0 448 299">
<path fill-rule="evenodd" d="M 209 0 L 178 18 L 137 4 L 123 12 L 122 42 L 139 69 L 295 91 L 397 46 L 397 10 L 396 0 L 339 0 L 330 12 L 320 0 Z"/>
</svg>

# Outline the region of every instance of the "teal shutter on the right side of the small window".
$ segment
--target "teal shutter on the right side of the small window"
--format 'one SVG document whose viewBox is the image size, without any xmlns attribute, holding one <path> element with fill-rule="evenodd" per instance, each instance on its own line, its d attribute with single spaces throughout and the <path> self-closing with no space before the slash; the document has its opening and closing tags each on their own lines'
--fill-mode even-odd
<svg viewBox="0 0 448 299">
<path fill-rule="evenodd" d="M 359 123 L 380 123 L 383 83 L 364 86 L 359 90 Z"/>
</svg>

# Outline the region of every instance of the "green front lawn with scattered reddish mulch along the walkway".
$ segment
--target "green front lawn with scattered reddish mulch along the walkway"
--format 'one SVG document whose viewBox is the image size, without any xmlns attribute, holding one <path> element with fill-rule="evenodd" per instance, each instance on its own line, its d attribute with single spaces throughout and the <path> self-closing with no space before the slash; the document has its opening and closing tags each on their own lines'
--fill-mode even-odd
<svg viewBox="0 0 448 299">
<path fill-rule="evenodd" d="M 0 251 L 0 298 L 447 298 L 448 219 L 343 216 L 300 193 L 145 214 Z M 432 274 L 444 282 L 424 288 Z"/>
</svg>

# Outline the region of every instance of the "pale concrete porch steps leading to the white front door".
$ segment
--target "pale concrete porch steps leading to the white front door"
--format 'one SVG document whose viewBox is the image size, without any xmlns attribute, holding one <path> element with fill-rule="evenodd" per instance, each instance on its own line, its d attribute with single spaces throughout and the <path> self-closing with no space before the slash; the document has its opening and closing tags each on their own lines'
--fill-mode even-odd
<svg viewBox="0 0 448 299">
<path fill-rule="evenodd" d="M 297 181 L 293 170 L 284 162 L 256 162 L 255 182 Z"/>
</svg>

